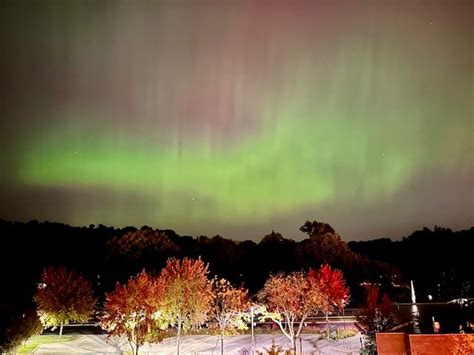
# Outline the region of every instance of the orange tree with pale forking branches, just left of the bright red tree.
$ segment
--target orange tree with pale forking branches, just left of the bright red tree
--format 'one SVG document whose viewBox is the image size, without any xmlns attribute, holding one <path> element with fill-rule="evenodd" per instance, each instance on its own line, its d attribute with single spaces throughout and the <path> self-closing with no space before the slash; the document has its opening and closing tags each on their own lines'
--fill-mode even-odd
<svg viewBox="0 0 474 355">
<path fill-rule="evenodd" d="M 311 284 L 302 272 L 271 275 L 259 297 L 267 305 L 267 317 L 278 324 L 296 352 L 296 339 L 306 318 L 316 313 L 323 302 L 318 286 Z"/>
</svg>

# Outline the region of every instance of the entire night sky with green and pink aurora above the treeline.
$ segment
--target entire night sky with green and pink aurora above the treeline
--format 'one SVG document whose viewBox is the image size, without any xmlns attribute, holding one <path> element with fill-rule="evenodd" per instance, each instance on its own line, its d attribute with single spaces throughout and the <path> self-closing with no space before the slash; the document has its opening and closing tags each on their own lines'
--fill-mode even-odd
<svg viewBox="0 0 474 355">
<path fill-rule="evenodd" d="M 0 218 L 474 224 L 474 1 L 1 1 Z"/>
</svg>

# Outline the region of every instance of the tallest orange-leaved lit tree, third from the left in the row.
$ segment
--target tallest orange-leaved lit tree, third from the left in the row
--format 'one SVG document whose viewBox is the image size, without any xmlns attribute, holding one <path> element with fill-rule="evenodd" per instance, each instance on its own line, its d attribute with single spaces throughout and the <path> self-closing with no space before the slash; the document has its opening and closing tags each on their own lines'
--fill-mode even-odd
<svg viewBox="0 0 474 355">
<path fill-rule="evenodd" d="M 201 259 L 169 259 L 161 271 L 166 285 L 163 312 L 176 327 L 176 352 L 179 354 L 181 333 L 207 320 L 212 290 L 207 278 L 208 266 Z"/>
</svg>

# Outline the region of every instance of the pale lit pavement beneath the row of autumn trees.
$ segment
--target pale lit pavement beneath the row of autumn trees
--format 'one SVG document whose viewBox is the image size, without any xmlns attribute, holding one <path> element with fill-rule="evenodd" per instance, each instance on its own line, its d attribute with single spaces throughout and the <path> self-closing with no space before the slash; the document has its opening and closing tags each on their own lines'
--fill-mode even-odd
<svg viewBox="0 0 474 355">
<path fill-rule="evenodd" d="M 339 341 L 320 340 L 315 335 L 303 335 L 301 346 L 305 354 L 359 354 L 360 337 L 354 336 Z M 145 345 L 140 348 L 141 354 L 175 354 L 176 338 L 167 338 L 162 343 Z M 288 348 L 290 343 L 283 335 L 257 335 L 255 350 L 266 354 L 272 341 L 276 345 Z M 300 344 L 298 343 L 298 350 Z M 185 336 L 181 340 L 182 354 L 220 354 L 216 336 Z M 80 335 L 78 339 L 66 343 L 41 345 L 35 354 L 121 354 L 130 350 L 126 341 L 118 338 L 107 338 L 106 335 Z M 250 354 L 251 338 L 249 335 L 229 336 L 224 339 L 226 354 Z"/>
</svg>

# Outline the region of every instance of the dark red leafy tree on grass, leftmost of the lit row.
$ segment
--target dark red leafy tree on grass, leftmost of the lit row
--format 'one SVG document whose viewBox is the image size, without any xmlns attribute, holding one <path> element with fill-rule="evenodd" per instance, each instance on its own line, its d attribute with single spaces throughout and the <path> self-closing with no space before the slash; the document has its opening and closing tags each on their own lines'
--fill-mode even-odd
<svg viewBox="0 0 474 355">
<path fill-rule="evenodd" d="M 53 330 L 69 322 L 87 322 L 96 305 L 91 283 L 79 273 L 64 267 L 48 267 L 33 297 L 39 319 L 45 328 Z"/>
</svg>

